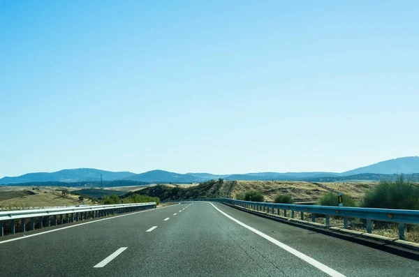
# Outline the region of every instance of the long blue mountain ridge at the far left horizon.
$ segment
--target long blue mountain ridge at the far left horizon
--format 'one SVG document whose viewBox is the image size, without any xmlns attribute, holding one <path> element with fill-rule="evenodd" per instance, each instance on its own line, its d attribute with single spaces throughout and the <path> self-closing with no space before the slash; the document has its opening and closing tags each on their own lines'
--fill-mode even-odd
<svg viewBox="0 0 419 277">
<path fill-rule="evenodd" d="M 29 182 L 77 182 L 77 181 L 114 181 L 125 179 L 126 177 L 135 175 L 132 172 L 111 172 L 105 170 L 96 170 L 94 168 L 78 168 L 74 170 L 60 170 L 57 172 L 38 172 L 28 173 L 18 177 L 3 177 L 0 184 L 19 184 Z"/>
</svg>

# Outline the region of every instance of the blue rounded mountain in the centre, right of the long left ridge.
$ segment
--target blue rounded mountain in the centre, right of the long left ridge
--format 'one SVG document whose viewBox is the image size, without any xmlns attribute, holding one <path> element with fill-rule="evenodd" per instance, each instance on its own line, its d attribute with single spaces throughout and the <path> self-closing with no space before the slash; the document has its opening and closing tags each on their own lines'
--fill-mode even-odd
<svg viewBox="0 0 419 277">
<path fill-rule="evenodd" d="M 165 182 L 173 184 L 199 183 L 200 181 L 203 181 L 203 179 L 191 176 L 189 174 L 179 174 L 164 170 L 152 170 L 141 174 L 135 174 L 133 176 L 126 177 L 126 179 L 149 183 Z"/>
</svg>

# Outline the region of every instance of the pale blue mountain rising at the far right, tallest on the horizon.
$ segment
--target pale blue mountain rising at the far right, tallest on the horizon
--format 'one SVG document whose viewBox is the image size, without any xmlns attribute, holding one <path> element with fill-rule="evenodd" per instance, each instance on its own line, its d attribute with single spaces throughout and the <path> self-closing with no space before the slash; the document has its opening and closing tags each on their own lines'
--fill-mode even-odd
<svg viewBox="0 0 419 277">
<path fill-rule="evenodd" d="M 359 167 L 355 170 L 343 172 L 343 175 L 354 175 L 362 173 L 376 174 L 411 174 L 419 173 L 419 157 L 394 158 L 392 160 L 384 160 L 374 165 Z"/>
</svg>

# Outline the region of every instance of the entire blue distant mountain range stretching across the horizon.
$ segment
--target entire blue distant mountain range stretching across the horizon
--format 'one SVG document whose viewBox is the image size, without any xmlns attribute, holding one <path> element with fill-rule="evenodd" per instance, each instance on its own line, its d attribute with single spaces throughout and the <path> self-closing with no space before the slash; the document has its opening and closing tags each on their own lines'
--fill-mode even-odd
<svg viewBox="0 0 419 277">
<path fill-rule="evenodd" d="M 210 179 L 228 180 L 288 180 L 288 181 L 344 181 L 344 180 L 380 180 L 392 177 L 392 174 L 419 173 L 419 157 L 404 157 L 385 160 L 374 165 L 360 167 L 346 172 L 260 172 L 247 174 L 210 174 L 187 173 L 179 174 L 164 170 L 152 170 L 141 174 L 133 172 L 110 172 L 93 168 L 79 168 L 74 170 L 60 170 L 57 172 L 38 172 L 24 174 L 19 177 L 4 177 L 0 184 L 21 184 L 33 182 L 86 182 L 100 181 L 140 181 L 150 183 L 190 184 Z M 416 174 L 414 174 L 416 176 Z"/>
</svg>

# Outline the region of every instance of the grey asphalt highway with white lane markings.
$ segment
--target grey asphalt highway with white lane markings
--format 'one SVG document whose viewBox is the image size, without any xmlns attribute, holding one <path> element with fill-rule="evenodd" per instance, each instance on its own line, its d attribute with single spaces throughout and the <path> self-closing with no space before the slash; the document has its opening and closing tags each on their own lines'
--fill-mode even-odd
<svg viewBox="0 0 419 277">
<path fill-rule="evenodd" d="M 39 231 L 0 240 L 0 276 L 394 277 L 419 273 L 416 260 L 221 203 L 182 203 Z"/>
</svg>

